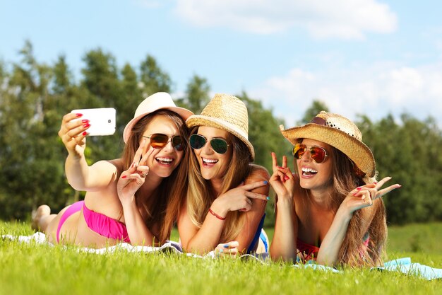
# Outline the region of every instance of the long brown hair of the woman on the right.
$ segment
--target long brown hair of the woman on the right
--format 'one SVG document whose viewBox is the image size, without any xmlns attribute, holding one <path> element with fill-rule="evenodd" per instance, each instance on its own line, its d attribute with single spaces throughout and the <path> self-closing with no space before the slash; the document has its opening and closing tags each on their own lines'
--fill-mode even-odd
<svg viewBox="0 0 442 295">
<path fill-rule="evenodd" d="M 353 161 L 333 146 L 330 158 L 333 161 L 333 192 L 330 198 L 330 207 L 334 212 L 337 212 L 340 204 L 351 190 L 361 185 L 374 183 L 376 178 L 362 177 Z M 382 264 L 387 240 L 386 209 L 382 198 L 375 199 L 372 206 L 373 208 L 370 209 L 373 209 L 374 212 L 370 220 L 365 220 L 368 214 L 366 210 L 370 210 L 369 207 L 353 213 L 338 254 L 338 260 L 342 265 L 375 266 Z M 369 238 L 368 247 L 363 245 L 366 238 Z"/>
</svg>

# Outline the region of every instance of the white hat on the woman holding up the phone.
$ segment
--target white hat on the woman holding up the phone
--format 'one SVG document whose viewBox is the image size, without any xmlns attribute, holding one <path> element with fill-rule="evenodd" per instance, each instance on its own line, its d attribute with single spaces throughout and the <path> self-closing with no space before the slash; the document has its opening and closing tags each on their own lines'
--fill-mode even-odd
<svg viewBox="0 0 442 295">
<path fill-rule="evenodd" d="M 193 112 L 191 112 L 190 110 L 177 107 L 172 100 L 172 97 L 170 97 L 169 93 L 154 93 L 153 95 L 143 100 L 140 105 L 138 105 L 138 108 L 136 108 L 135 111 L 135 115 L 133 115 L 133 119 L 130 120 L 129 123 L 127 123 L 126 127 L 124 127 L 124 142 L 127 143 L 129 137 L 131 136 L 133 126 L 135 126 L 139 120 L 141 120 L 145 115 L 149 115 L 151 112 L 155 112 L 155 110 L 161 109 L 172 110 L 172 112 L 176 112 L 180 117 L 183 118 L 184 121 L 186 121 L 189 116 L 193 115 Z"/>
</svg>

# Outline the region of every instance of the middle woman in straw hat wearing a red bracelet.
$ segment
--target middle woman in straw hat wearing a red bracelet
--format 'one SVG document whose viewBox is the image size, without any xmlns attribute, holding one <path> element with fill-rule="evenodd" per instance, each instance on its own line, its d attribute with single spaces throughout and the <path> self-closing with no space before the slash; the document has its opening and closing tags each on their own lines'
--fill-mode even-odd
<svg viewBox="0 0 442 295">
<path fill-rule="evenodd" d="M 235 255 L 258 247 L 270 175 L 251 164 L 249 119 L 235 96 L 216 94 L 201 115 L 189 117 L 189 188 L 181 205 L 179 237 L 188 253 Z M 263 250 L 265 251 L 265 250 Z"/>
</svg>

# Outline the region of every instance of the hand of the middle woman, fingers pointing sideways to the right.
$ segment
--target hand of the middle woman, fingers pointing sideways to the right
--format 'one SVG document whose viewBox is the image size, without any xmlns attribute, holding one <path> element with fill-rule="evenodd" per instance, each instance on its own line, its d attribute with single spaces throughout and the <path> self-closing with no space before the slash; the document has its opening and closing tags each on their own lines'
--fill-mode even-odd
<svg viewBox="0 0 442 295">
<path fill-rule="evenodd" d="M 257 181 L 247 185 L 241 183 L 238 187 L 232 188 L 232 190 L 228 190 L 220 195 L 220 197 L 217 197 L 217 199 L 213 201 L 211 209 L 222 217 L 225 217 L 229 211 L 239 210 L 241 212 L 248 212 L 252 206 L 252 199 L 268 201 L 268 196 L 251 192 L 251 190 L 264 185 L 268 185 L 268 182 Z"/>
</svg>

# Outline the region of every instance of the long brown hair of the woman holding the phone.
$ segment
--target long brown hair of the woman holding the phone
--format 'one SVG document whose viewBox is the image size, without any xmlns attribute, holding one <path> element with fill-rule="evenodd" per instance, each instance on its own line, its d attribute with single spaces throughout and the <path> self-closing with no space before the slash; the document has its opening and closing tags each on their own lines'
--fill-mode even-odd
<svg viewBox="0 0 442 295">
<path fill-rule="evenodd" d="M 176 112 L 170 110 L 157 110 L 149 115 L 145 115 L 133 126 L 131 135 L 126 146 L 124 146 L 121 159 L 124 170 L 129 169 L 133 156 L 135 156 L 136 150 L 140 146 L 143 132 L 156 116 L 165 116 L 172 120 L 179 130 L 179 135 L 184 139 L 184 156 L 181 158 L 179 166 L 174 169 L 169 177 L 162 180 L 161 184 L 154 190 L 153 195 L 149 197 L 149 199 L 152 198 L 154 201 L 151 204 L 145 204 L 142 202 L 145 198 L 141 197 L 141 193 L 135 193 L 137 207 L 140 212 L 145 213 L 143 216 L 145 216 L 146 226 L 152 229 L 153 226 L 159 225 L 159 231 L 155 234 L 157 240 L 153 241 L 157 245 L 165 243 L 169 239 L 172 226 L 177 221 L 179 199 L 186 193 L 188 171 L 186 155 L 190 153 L 190 149 L 185 139 L 189 138 L 189 129 L 186 127 L 184 120 Z"/>
</svg>

